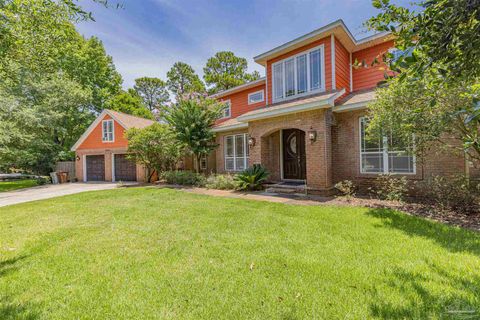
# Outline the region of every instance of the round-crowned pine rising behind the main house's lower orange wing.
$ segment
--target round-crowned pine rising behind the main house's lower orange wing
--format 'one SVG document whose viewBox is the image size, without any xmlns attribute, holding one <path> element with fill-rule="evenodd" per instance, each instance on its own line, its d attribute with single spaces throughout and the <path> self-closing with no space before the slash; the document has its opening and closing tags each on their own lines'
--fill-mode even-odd
<svg viewBox="0 0 480 320">
<path fill-rule="evenodd" d="M 203 78 L 211 86 L 209 92 L 216 93 L 260 78 L 258 72 L 248 73 L 247 69 L 247 59 L 231 51 L 220 51 L 208 59 Z"/>
</svg>

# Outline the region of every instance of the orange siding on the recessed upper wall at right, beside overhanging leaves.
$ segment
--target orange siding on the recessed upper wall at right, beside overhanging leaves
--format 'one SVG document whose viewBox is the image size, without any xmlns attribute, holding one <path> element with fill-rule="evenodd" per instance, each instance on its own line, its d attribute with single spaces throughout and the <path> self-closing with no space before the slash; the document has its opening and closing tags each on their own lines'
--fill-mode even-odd
<svg viewBox="0 0 480 320">
<path fill-rule="evenodd" d="M 375 66 L 371 66 L 375 58 L 379 62 L 382 61 L 382 54 L 388 51 L 388 49 L 394 47 L 393 41 L 387 41 L 382 44 L 370 47 L 367 49 L 354 52 L 352 56 L 353 62 L 355 59 L 362 63 L 363 60 L 367 63 L 367 67 L 353 68 L 353 91 L 374 88 L 377 83 L 384 80 L 385 64 L 381 63 Z"/>
</svg>

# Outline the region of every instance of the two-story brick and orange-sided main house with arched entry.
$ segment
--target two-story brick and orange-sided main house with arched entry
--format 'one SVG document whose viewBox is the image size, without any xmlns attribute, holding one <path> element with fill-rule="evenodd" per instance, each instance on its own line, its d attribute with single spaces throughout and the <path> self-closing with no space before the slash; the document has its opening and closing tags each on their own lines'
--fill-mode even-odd
<svg viewBox="0 0 480 320">
<path fill-rule="evenodd" d="M 422 180 L 473 172 L 464 155 L 438 150 L 420 162 L 394 137 L 365 139 L 366 108 L 385 79 L 386 66 L 372 62 L 387 51 L 396 52 L 390 34 L 356 39 L 339 20 L 256 56 L 266 77 L 214 95 L 227 108 L 214 127 L 215 161 L 203 161 L 214 167 L 205 169 L 259 163 L 278 187 L 317 193 L 346 179 L 369 185 L 384 173 Z"/>
</svg>

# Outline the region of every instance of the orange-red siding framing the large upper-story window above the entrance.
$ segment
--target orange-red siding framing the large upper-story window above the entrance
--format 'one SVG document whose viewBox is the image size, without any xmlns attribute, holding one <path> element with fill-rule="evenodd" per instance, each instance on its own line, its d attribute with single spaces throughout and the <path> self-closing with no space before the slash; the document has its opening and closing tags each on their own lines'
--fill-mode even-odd
<svg viewBox="0 0 480 320">
<path fill-rule="evenodd" d="M 267 87 L 268 87 L 268 103 L 272 103 L 272 63 L 286 59 L 290 56 L 296 55 L 302 51 L 315 48 L 319 45 L 324 45 L 324 56 L 325 56 L 325 89 L 332 90 L 332 52 L 331 52 L 331 38 L 330 36 L 312 42 L 308 45 L 300 47 L 298 49 L 292 50 L 288 53 L 282 54 L 272 60 L 267 61 Z"/>
</svg>

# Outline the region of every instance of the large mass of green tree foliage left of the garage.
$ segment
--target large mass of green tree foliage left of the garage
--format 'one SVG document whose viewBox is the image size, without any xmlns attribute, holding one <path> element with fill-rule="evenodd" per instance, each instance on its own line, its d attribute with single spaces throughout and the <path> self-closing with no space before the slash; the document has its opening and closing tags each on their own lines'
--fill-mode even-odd
<svg viewBox="0 0 480 320">
<path fill-rule="evenodd" d="M 105 4 L 105 1 L 98 1 Z M 48 173 L 120 90 L 121 77 L 75 1 L 0 1 L 0 168 Z"/>
</svg>

